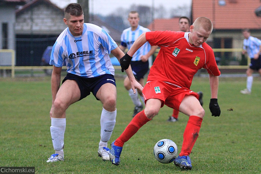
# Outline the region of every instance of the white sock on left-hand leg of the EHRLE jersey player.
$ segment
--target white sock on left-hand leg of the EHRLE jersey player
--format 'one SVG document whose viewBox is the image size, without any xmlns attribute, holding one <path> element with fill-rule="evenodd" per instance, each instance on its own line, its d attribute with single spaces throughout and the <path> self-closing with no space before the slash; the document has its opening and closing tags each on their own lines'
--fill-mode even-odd
<svg viewBox="0 0 261 174">
<path fill-rule="evenodd" d="M 50 130 L 54 150 L 61 151 L 64 148 L 65 127 L 66 118 L 51 118 Z M 62 153 L 60 155 L 64 156 L 63 151 L 59 153 Z"/>
</svg>

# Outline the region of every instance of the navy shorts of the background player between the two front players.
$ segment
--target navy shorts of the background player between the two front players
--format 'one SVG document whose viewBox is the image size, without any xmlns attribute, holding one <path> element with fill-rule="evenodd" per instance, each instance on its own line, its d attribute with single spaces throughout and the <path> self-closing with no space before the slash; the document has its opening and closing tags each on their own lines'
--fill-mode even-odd
<svg viewBox="0 0 261 174">
<path fill-rule="evenodd" d="M 143 79 L 148 72 L 148 61 L 131 61 L 131 69 L 137 80 Z"/>
</svg>

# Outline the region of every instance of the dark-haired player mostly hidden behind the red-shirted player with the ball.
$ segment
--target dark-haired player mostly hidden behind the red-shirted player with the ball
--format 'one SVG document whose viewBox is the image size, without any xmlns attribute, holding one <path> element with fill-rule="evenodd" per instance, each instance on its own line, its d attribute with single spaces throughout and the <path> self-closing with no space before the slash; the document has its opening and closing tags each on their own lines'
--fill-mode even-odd
<svg viewBox="0 0 261 174">
<path fill-rule="evenodd" d="M 189 26 L 190 26 L 190 20 L 188 17 L 186 16 L 182 16 L 179 18 L 179 28 L 180 28 L 180 31 L 183 31 L 183 32 L 189 32 Z M 200 91 L 200 92 L 197 92 L 197 97 L 200 101 L 200 104 L 201 106 L 203 105 L 203 100 L 202 100 L 202 97 L 203 97 L 203 93 Z M 168 118 L 168 122 L 176 122 L 178 121 L 178 117 L 179 117 L 179 112 L 178 110 L 176 109 L 173 109 L 173 112 L 172 112 L 172 115 L 169 116 Z"/>
</svg>

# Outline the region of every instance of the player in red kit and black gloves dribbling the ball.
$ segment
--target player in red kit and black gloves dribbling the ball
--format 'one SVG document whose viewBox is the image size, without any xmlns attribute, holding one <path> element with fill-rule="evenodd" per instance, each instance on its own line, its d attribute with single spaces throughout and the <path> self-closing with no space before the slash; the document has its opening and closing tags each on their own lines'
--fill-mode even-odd
<svg viewBox="0 0 261 174">
<path fill-rule="evenodd" d="M 183 144 L 174 164 L 191 169 L 190 153 L 197 140 L 205 111 L 195 92 L 190 90 L 193 76 L 201 68 L 209 73 L 212 116 L 220 116 L 218 106 L 218 76 L 220 71 L 214 52 L 205 43 L 213 29 L 212 22 L 199 17 L 190 26 L 190 33 L 175 31 L 151 31 L 140 35 L 127 54 L 120 59 L 122 69 L 128 69 L 131 56 L 146 41 L 160 46 L 142 93 L 145 109 L 131 120 L 124 132 L 111 144 L 110 161 L 119 165 L 122 147 L 144 124 L 150 121 L 164 104 L 189 116 L 183 134 Z"/>
</svg>

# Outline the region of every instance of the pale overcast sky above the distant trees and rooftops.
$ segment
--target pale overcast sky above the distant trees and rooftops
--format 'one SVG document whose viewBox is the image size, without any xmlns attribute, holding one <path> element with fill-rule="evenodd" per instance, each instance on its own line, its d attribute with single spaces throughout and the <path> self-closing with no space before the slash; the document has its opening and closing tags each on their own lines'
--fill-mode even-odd
<svg viewBox="0 0 261 174">
<path fill-rule="evenodd" d="M 50 0 L 60 8 L 64 8 L 68 3 L 75 3 L 77 0 Z M 122 7 L 128 8 L 131 5 L 146 5 L 146 6 L 164 6 L 167 10 L 176 6 L 191 5 L 192 0 L 89 0 L 89 12 L 94 14 L 108 15 L 114 12 L 115 9 Z"/>
</svg>

